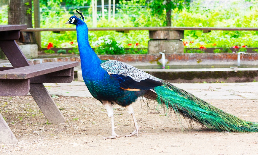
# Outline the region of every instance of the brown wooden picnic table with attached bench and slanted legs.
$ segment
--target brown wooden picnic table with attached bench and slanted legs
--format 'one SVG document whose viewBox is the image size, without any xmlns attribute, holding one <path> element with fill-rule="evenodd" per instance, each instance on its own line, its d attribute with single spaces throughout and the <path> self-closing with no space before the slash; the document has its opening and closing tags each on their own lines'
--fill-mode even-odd
<svg viewBox="0 0 258 155">
<path fill-rule="evenodd" d="M 0 25 L 0 48 L 12 67 L 0 67 L 0 96 L 23 96 L 30 92 L 49 123 L 65 119 L 43 83 L 70 83 L 79 62 L 46 62 L 30 65 L 16 41 L 27 25 Z M 0 143 L 17 143 L 0 114 Z"/>
</svg>

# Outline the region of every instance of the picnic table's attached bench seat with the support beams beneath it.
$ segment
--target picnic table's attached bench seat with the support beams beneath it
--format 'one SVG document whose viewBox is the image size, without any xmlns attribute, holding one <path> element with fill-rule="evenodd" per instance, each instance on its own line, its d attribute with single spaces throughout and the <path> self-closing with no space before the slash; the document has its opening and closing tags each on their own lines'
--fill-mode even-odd
<svg viewBox="0 0 258 155">
<path fill-rule="evenodd" d="M 78 62 L 46 62 L 25 67 L 0 68 L 0 96 L 27 95 L 30 83 L 70 83 Z M 7 70 L 5 70 L 7 69 Z"/>
</svg>

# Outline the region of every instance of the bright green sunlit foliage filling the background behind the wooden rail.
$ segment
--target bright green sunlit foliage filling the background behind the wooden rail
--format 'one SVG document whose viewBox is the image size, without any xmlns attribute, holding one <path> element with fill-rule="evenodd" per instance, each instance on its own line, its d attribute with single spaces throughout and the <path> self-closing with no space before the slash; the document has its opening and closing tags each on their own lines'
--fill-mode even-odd
<svg viewBox="0 0 258 155">
<path fill-rule="evenodd" d="M 181 5 L 183 0 L 176 0 Z M 231 2 L 227 6 L 221 3 L 212 4 L 209 8 L 204 7 L 204 0 L 195 0 L 191 2 L 191 7 L 172 10 L 172 26 L 175 27 L 258 27 L 258 2 L 254 0 Z M 85 16 L 85 23 L 88 27 L 92 27 L 92 18 L 90 8 L 90 0 L 40 0 L 41 27 L 42 28 L 74 28 L 74 25 L 64 25 L 64 23 L 74 15 L 76 6 Z M 154 6 L 155 3 L 159 3 Z M 166 25 L 165 4 L 160 4 L 161 0 L 150 1 L 132 0 L 120 1 L 119 7 L 116 9 L 116 18 L 108 22 L 106 19 L 98 19 L 97 27 L 160 27 Z M 153 5 L 151 7 L 151 5 Z M 61 7 L 69 6 L 69 7 Z M 148 7 L 149 6 L 149 7 Z M 206 5 L 207 6 L 207 5 Z M 228 7 L 230 6 L 230 7 Z M 239 7 L 243 6 L 243 7 Z M 250 6 L 250 7 L 246 7 Z M 157 10 L 153 10 L 157 7 Z M 180 11 L 181 9 L 181 11 Z M 8 7 L 7 5 L 0 7 L 0 23 L 8 23 Z M 158 15 L 157 12 L 160 13 Z M 156 12 L 156 13 L 155 13 Z M 153 15 L 155 14 L 155 15 Z M 33 15 L 33 12 L 32 12 Z M 101 36 L 111 35 L 115 41 L 121 41 L 126 47 L 129 43 L 140 43 L 137 48 L 147 48 L 148 31 L 130 31 L 129 33 L 118 33 L 114 31 L 89 31 L 90 44 L 94 43 Z M 193 41 L 189 43 L 187 48 L 199 48 L 204 45 L 206 48 L 220 47 L 222 52 L 232 52 L 230 47 L 238 45 L 247 45 L 248 47 L 258 47 L 257 31 L 211 31 L 203 33 L 202 31 L 185 30 L 183 41 Z M 78 54 L 77 38 L 75 31 L 66 31 L 65 33 L 52 33 L 51 31 L 41 32 L 42 48 L 48 43 L 53 43 L 57 48 L 73 48 L 71 53 Z M 74 44 L 69 44 L 73 42 Z M 216 44 L 216 45 L 214 45 Z M 94 48 L 94 46 L 92 46 Z M 77 50 L 77 51 L 76 51 Z M 133 51 L 125 51 L 125 53 L 136 53 Z M 145 52 L 145 51 L 142 51 Z M 256 51 L 257 52 L 257 51 Z M 137 52 L 141 53 L 141 52 Z"/>
</svg>

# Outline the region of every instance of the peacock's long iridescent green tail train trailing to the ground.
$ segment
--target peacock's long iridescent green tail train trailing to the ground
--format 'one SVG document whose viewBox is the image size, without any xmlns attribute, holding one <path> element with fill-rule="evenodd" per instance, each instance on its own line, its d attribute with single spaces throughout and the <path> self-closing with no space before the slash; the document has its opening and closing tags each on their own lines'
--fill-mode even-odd
<svg viewBox="0 0 258 155">
<path fill-rule="evenodd" d="M 258 132 L 258 123 L 248 122 L 223 112 L 180 88 L 163 81 L 164 85 L 155 87 L 157 102 L 185 118 L 217 131 Z"/>
</svg>

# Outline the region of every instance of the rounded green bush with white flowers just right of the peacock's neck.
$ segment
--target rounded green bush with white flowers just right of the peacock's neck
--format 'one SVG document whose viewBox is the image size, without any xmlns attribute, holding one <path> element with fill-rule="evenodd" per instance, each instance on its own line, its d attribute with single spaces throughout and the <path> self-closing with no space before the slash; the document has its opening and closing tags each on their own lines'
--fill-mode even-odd
<svg viewBox="0 0 258 155">
<path fill-rule="evenodd" d="M 99 37 L 97 41 L 93 43 L 95 52 L 97 54 L 125 54 L 124 46 L 120 41 L 116 41 L 110 35 Z"/>
</svg>

